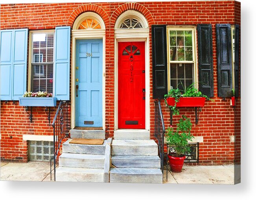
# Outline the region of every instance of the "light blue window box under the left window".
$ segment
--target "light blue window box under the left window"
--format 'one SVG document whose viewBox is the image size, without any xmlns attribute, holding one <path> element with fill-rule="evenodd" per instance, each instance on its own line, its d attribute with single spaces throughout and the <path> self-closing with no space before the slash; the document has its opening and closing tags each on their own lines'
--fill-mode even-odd
<svg viewBox="0 0 256 200">
<path fill-rule="evenodd" d="M 56 106 L 56 97 L 19 97 L 19 104 L 22 106 Z"/>
</svg>

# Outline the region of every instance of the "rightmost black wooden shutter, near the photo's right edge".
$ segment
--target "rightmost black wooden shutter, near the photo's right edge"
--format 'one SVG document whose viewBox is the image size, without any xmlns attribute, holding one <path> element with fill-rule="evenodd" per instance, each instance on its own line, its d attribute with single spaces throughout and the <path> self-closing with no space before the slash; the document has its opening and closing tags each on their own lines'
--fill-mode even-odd
<svg viewBox="0 0 256 200">
<path fill-rule="evenodd" d="M 216 24 L 218 96 L 232 96 L 232 46 L 230 24 Z"/>
</svg>

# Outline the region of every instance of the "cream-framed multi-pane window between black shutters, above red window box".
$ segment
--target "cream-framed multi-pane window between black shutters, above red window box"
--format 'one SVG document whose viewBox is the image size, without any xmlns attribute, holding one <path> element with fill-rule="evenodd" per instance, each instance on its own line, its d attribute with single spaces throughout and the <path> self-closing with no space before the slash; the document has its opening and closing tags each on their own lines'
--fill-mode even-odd
<svg viewBox="0 0 256 200">
<path fill-rule="evenodd" d="M 195 83 L 194 29 L 168 29 L 170 88 L 184 90 Z"/>
</svg>

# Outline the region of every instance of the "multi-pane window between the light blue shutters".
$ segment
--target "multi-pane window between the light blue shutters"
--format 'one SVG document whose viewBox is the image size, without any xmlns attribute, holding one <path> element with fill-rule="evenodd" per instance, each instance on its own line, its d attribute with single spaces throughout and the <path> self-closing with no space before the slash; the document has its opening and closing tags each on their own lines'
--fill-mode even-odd
<svg viewBox="0 0 256 200">
<path fill-rule="evenodd" d="M 53 92 L 54 33 L 32 33 L 32 91 Z"/>
</svg>

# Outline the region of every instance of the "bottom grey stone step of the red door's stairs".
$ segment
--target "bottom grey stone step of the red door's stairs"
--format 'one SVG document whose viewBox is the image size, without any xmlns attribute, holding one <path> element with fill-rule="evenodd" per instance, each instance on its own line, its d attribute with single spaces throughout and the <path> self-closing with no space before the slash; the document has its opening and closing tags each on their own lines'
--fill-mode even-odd
<svg viewBox="0 0 256 200">
<path fill-rule="evenodd" d="M 162 183 L 162 171 L 151 168 L 111 168 L 113 183 Z"/>
</svg>

